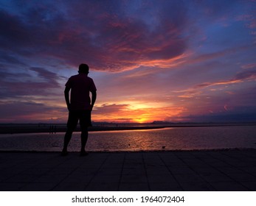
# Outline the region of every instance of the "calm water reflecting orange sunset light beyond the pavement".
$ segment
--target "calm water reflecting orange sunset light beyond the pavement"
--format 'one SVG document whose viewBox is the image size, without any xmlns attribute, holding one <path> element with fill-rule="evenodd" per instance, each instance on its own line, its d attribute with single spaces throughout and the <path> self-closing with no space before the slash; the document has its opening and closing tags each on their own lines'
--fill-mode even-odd
<svg viewBox="0 0 256 206">
<path fill-rule="evenodd" d="M 1 134 L 0 151 L 60 152 L 64 132 Z M 167 127 L 89 132 L 89 152 L 136 152 L 205 149 L 256 149 L 255 126 Z M 74 132 L 70 152 L 80 151 Z"/>
</svg>

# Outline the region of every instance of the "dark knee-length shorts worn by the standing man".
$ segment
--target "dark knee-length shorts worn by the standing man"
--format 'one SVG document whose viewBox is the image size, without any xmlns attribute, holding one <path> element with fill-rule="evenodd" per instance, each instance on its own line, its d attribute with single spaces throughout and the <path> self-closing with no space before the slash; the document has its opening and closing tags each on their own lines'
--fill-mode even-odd
<svg viewBox="0 0 256 206">
<path fill-rule="evenodd" d="M 91 127 L 91 110 L 69 111 L 69 119 L 66 126 L 74 131 L 77 127 L 78 120 L 81 131 L 83 131 L 83 129 L 87 129 L 87 127 Z"/>
</svg>

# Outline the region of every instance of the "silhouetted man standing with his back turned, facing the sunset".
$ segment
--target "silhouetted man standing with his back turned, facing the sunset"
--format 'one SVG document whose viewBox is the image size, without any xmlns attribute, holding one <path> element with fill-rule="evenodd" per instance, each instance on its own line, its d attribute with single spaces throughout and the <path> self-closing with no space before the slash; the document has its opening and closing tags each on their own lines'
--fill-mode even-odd
<svg viewBox="0 0 256 206">
<path fill-rule="evenodd" d="M 68 154 L 67 148 L 69 141 L 72 138 L 72 133 L 77 127 L 79 120 L 81 129 L 81 151 L 80 156 L 86 156 L 86 142 L 88 139 L 88 127 L 91 126 L 91 110 L 94 107 L 97 93 L 93 79 L 88 77 L 89 66 L 86 64 L 79 65 L 79 74 L 69 78 L 66 82 L 66 88 L 64 91 L 66 106 L 69 110 L 69 119 L 66 124 L 67 130 L 64 137 L 62 156 Z M 69 90 L 71 90 L 69 101 Z M 90 98 L 91 92 L 91 98 Z"/>
</svg>

